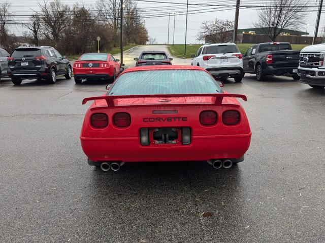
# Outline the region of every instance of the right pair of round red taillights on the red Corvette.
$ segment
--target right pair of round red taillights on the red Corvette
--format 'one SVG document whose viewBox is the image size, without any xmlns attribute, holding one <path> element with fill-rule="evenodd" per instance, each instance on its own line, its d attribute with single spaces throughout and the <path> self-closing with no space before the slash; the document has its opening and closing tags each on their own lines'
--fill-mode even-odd
<svg viewBox="0 0 325 243">
<path fill-rule="evenodd" d="M 215 111 L 206 110 L 200 113 L 200 123 L 204 126 L 215 125 L 218 115 Z M 224 125 L 237 125 L 240 121 L 240 113 L 237 110 L 227 110 L 222 113 L 222 123 Z"/>
</svg>

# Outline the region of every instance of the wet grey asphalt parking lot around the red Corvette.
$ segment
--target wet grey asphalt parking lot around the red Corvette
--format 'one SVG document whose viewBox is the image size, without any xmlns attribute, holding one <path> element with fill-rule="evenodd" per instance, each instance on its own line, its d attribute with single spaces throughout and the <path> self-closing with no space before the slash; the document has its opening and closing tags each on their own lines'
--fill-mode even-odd
<svg viewBox="0 0 325 243">
<path fill-rule="evenodd" d="M 105 83 L 0 83 L 0 242 L 324 242 L 325 93 L 288 77 L 245 94 L 245 161 L 89 167 L 79 134 Z M 159 155 L 157 155 L 159 156 Z"/>
</svg>

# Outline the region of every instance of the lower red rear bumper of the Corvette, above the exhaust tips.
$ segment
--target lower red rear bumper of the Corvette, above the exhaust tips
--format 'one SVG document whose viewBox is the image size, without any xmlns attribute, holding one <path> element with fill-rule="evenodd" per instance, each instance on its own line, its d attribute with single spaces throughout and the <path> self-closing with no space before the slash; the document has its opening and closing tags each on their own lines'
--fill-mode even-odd
<svg viewBox="0 0 325 243">
<path fill-rule="evenodd" d="M 80 137 L 84 153 L 92 161 L 200 161 L 211 158 L 240 158 L 250 145 L 251 133 L 193 136 L 191 144 L 142 146 L 138 137 Z"/>
</svg>

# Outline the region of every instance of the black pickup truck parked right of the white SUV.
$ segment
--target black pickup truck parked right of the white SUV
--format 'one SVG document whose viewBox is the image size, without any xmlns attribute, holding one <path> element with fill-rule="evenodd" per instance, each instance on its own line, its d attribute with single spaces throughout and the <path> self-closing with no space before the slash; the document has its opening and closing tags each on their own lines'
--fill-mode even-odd
<svg viewBox="0 0 325 243">
<path fill-rule="evenodd" d="M 258 81 L 266 75 L 290 75 L 298 80 L 299 54 L 287 42 L 256 44 L 243 56 L 244 72 L 256 73 Z"/>
</svg>

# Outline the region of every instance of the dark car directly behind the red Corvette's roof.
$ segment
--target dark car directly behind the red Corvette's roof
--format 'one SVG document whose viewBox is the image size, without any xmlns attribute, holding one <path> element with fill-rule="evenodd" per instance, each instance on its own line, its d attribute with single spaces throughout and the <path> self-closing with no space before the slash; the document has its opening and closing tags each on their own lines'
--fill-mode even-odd
<svg viewBox="0 0 325 243">
<path fill-rule="evenodd" d="M 166 52 L 162 51 L 145 51 L 142 52 L 139 58 L 134 58 L 137 66 L 147 65 L 172 65 L 173 58 L 169 58 Z"/>
</svg>

